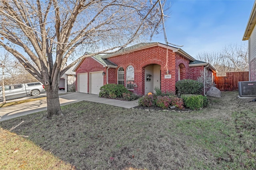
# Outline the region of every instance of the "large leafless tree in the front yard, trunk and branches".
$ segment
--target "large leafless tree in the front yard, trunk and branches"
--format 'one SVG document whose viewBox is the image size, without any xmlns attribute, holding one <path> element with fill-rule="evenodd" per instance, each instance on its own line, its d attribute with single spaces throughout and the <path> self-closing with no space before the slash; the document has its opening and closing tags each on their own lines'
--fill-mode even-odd
<svg viewBox="0 0 256 170">
<path fill-rule="evenodd" d="M 0 45 L 45 85 L 48 117 L 62 115 L 58 84 L 66 70 L 146 39 L 161 24 L 159 0 L 1 0 L 0 14 Z"/>
</svg>

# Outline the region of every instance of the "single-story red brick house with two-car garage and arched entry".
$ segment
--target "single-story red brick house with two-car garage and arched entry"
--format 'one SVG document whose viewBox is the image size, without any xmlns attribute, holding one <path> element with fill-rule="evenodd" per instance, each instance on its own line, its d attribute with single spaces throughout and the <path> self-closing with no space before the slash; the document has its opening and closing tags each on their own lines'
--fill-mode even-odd
<svg viewBox="0 0 256 170">
<path fill-rule="evenodd" d="M 180 48 L 162 43 L 140 43 L 108 55 L 81 60 L 76 72 L 76 91 L 98 94 L 104 84 L 123 84 L 137 95 L 175 92 L 175 83 L 197 78 L 204 71 L 209 76 L 216 70 L 209 63 L 197 61 Z"/>
</svg>

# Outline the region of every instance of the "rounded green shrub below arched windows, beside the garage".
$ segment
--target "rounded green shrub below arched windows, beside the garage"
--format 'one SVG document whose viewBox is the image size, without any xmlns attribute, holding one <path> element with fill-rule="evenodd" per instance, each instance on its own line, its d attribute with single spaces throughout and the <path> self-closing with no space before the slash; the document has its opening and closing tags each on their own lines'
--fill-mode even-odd
<svg viewBox="0 0 256 170">
<path fill-rule="evenodd" d="M 129 92 L 122 84 L 105 84 L 100 87 L 99 97 L 122 98 L 123 93 L 131 94 L 132 92 Z"/>
</svg>

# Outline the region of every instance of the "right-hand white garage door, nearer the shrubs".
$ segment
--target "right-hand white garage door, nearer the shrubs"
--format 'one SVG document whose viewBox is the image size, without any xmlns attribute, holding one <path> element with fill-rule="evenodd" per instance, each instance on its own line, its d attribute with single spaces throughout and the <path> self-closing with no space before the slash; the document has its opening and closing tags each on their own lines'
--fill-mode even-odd
<svg viewBox="0 0 256 170">
<path fill-rule="evenodd" d="M 91 94 L 99 94 L 100 87 L 103 86 L 102 72 L 91 73 Z"/>
</svg>

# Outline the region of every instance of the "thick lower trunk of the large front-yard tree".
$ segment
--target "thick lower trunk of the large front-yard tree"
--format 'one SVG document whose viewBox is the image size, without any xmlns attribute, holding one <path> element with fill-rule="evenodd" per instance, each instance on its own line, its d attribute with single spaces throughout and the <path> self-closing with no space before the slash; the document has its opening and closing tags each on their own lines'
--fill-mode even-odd
<svg viewBox="0 0 256 170">
<path fill-rule="evenodd" d="M 60 109 L 60 100 L 58 94 L 58 88 L 52 89 L 51 87 L 46 89 L 47 97 L 47 117 L 51 118 L 53 115 L 62 115 Z"/>
</svg>

